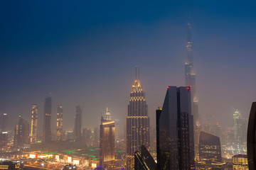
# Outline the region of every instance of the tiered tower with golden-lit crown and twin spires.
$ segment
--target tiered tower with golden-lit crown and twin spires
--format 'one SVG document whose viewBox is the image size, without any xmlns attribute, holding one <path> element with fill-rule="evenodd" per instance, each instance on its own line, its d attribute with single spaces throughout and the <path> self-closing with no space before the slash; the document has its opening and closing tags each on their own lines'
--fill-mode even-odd
<svg viewBox="0 0 256 170">
<path fill-rule="evenodd" d="M 139 81 L 139 68 L 136 68 L 127 116 L 127 169 L 134 169 L 134 152 L 142 145 L 149 149 L 149 116 L 145 92 Z"/>
</svg>

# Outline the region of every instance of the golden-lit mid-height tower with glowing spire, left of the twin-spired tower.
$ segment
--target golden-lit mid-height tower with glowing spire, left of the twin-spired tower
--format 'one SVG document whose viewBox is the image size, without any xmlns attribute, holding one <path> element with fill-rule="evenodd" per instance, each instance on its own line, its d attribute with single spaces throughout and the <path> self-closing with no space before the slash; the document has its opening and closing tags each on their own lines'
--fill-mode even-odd
<svg viewBox="0 0 256 170">
<path fill-rule="evenodd" d="M 100 120 L 100 165 L 107 168 L 114 162 L 114 120 L 110 112 Z"/>
</svg>

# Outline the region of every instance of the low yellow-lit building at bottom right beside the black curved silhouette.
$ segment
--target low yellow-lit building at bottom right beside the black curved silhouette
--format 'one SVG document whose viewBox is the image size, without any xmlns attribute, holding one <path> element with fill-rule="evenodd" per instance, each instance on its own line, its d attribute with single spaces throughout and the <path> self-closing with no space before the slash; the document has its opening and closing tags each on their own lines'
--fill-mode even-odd
<svg viewBox="0 0 256 170">
<path fill-rule="evenodd" d="M 249 170 L 247 154 L 236 154 L 232 157 L 233 170 Z"/>
</svg>

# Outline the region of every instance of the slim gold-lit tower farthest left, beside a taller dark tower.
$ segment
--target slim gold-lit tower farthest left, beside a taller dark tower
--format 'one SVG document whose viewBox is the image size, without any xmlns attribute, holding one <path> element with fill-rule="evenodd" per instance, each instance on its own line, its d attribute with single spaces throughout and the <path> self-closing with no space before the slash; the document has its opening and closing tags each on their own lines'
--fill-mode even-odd
<svg viewBox="0 0 256 170">
<path fill-rule="evenodd" d="M 38 106 L 33 105 L 31 110 L 31 143 L 36 142 L 38 127 Z"/>
</svg>

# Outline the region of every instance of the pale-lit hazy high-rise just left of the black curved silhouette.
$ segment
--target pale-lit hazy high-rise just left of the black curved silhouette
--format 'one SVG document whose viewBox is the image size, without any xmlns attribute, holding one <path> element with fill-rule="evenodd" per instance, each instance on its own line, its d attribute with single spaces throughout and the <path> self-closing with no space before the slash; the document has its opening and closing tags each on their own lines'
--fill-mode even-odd
<svg viewBox="0 0 256 170">
<path fill-rule="evenodd" d="M 242 142 L 242 118 L 241 113 L 238 109 L 235 109 L 233 113 L 233 132 L 234 132 L 234 147 L 237 152 L 243 150 Z"/>
</svg>

